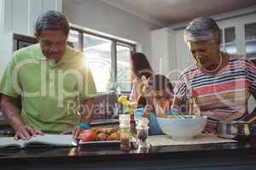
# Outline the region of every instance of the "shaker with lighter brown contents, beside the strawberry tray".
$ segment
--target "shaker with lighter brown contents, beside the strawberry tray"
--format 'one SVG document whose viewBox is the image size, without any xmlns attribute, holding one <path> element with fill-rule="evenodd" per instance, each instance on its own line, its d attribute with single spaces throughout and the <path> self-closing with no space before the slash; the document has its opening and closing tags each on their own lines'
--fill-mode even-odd
<svg viewBox="0 0 256 170">
<path fill-rule="evenodd" d="M 130 121 L 131 116 L 129 114 L 119 115 L 119 128 L 120 128 L 120 150 L 130 150 Z"/>
</svg>

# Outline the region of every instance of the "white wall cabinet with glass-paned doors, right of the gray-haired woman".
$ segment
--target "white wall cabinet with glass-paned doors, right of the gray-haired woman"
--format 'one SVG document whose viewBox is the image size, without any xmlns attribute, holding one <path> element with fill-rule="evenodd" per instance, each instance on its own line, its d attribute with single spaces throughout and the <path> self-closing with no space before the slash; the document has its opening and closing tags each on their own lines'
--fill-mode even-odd
<svg viewBox="0 0 256 170">
<path fill-rule="evenodd" d="M 224 52 L 256 59 L 256 14 L 218 21 L 218 26 L 222 31 Z"/>
</svg>

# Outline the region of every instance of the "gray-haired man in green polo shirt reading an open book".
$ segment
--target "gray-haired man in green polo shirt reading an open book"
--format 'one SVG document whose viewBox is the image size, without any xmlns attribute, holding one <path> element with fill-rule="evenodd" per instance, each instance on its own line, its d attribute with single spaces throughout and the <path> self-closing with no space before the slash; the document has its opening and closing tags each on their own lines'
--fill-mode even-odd
<svg viewBox="0 0 256 170">
<path fill-rule="evenodd" d="M 67 47 L 64 14 L 47 11 L 35 24 L 38 44 L 13 54 L 0 83 L 1 108 L 15 139 L 42 133 L 73 133 L 90 123 L 96 86 L 84 55 Z M 21 111 L 15 99 L 21 97 Z"/>
</svg>

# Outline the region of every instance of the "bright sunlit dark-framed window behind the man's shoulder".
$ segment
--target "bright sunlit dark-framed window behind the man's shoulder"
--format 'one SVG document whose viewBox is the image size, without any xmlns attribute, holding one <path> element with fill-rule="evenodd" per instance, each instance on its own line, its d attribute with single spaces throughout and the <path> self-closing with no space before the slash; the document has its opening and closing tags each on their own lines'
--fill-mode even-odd
<svg viewBox="0 0 256 170">
<path fill-rule="evenodd" d="M 68 42 L 84 53 L 98 93 L 115 88 L 122 93 L 131 92 L 130 56 L 136 44 L 76 28 L 71 29 Z"/>
</svg>

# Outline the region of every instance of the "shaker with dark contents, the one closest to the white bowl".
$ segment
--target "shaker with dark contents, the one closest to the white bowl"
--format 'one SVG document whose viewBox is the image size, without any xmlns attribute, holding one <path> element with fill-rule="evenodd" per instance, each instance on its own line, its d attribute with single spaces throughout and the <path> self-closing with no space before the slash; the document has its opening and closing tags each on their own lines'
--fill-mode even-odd
<svg viewBox="0 0 256 170">
<path fill-rule="evenodd" d="M 142 117 L 136 120 L 137 148 L 138 150 L 149 148 L 148 143 L 148 118 Z"/>
</svg>

